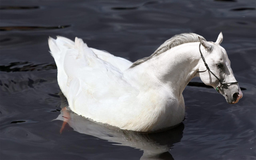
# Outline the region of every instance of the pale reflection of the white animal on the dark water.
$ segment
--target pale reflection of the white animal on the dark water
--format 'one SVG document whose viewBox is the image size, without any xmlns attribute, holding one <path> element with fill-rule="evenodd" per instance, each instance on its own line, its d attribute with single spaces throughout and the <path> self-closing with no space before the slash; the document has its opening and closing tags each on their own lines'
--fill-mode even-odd
<svg viewBox="0 0 256 160">
<path fill-rule="evenodd" d="M 65 132 L 63 129 L 68 123 L 76 132 L 114 142 L 114 145 L 130 146 L 143 150 L 144 153 L 140 159 L 174 159 L 168 151 L 173 144 L 180 142 L 184 124 L 172 130 L 150 134 L 120 130 L 119 128 L 92 122 L 82 116 L 78 116 L 71 110 L 66 109 L 66 106 L 68 106 L 67 100 L 61 92 L 59 95 L 62 101 L 62 110 L 55 120 L 63 121 L 60 133 Z"/>
</svg>

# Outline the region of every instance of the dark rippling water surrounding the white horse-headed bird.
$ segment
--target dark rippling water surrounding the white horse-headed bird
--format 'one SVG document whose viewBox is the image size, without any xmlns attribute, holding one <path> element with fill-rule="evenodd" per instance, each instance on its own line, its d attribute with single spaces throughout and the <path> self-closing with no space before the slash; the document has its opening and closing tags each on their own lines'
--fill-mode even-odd
<svg viewBox="0 0 256 160">
<path fill-rule="evenodd" d="M 255 0 L 1 0 L 0 159 L 256 159 L 255 6 Z M 138 134 L 70 113 L 60 134 L 67 104 L 48 36 L 77 36 L 135 61 L 175 34 L 215 41 L 220 31 L 243 88 L 238 104 L 191 83 L 183 93 L 186 119 L 173 130 Z"/>
</svg>

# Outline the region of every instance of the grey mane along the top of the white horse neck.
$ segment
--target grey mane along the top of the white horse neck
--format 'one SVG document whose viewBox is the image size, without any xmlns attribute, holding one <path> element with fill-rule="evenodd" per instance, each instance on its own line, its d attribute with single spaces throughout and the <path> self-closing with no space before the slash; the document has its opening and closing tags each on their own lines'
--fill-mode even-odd
<svg viewBox="0 0 256 160">
<path fill-rule="evenodd" d="M 202 38 L 202 40 L 205 40 L 204 37 L 195 34 L 195 33 L 182 33 L 182 34 L 177 34 L 170 38 L 169 40 L 166 40 L 157 50 L 151 54 L 149 57 L 145 57 L 142 59 L 139 59 L 135 61 L 130 68 L 133 68 L 135 66 L 138 66 L 139 64 L 142 64 L 143 62 L 150 60 L 151 58 L 158 56 L 161 53 L 166 52 L 167 50 L 170 50 L 171 48 L 175 46 L 179 46 L 181 44 L 185 43 L 190 43 L 190 42 L 199 42 L 198 36 Z"/>
</svg>

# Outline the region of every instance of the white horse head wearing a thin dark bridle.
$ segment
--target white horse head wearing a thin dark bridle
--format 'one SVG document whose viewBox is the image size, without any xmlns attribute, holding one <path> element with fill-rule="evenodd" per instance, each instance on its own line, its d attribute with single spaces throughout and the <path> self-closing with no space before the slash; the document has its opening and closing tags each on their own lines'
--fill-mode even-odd
<svg viewBox="0 0 256 160">
<path fill-rule="evenodd" d="M 198 38 L 203 46 L 200 48 L 202 61 L 198 64 L 198 74 L 202 82 L 216 88 L 229 104 L 237 103 L 243 94 L 230 67 L 226 50 L 220 46 L 223 40 L 222 32 L 220 32 L 216 42 L 207 42 L 200 37 Z M 203 59 L 205 59 L 206 65 Z"/>
</svg>

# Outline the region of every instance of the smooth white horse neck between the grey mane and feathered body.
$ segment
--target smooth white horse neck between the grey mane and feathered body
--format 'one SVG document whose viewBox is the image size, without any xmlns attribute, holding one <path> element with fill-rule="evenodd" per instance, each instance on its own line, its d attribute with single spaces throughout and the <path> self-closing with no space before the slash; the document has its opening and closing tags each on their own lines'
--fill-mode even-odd
<svg viewBox="0 0 256 160">
<path fill-rule="evenodd" d="M 176 46 L 142 64 L 132 68 L 141 76 L 140 86 L 159 83 L 170 88 L 174 96 L 179 97 L 188 82 L 194 78 L 200 60 L 199 42 Z"/>
</svg>

